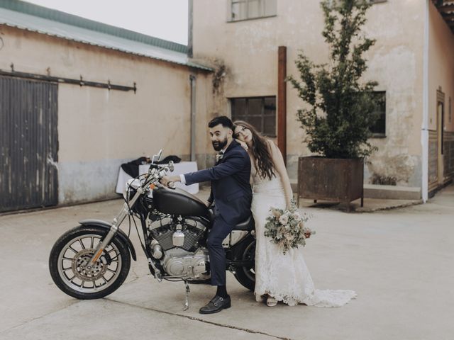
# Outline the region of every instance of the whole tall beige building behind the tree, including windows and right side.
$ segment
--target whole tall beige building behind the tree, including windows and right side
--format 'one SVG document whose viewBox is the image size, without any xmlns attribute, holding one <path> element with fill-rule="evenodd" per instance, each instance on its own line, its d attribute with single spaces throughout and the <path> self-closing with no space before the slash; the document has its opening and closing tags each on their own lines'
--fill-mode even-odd
<svg viewBox="0 0 454 340">
<path fill-rule="evenodd" d="M 450 1 L 373 2 L 364 29 L 377 42 L 364 80 L 379 83 L 383 101 L 365 185 L 390 184 L 402 197 L 416 191 L 426 200 L 453 179 L 454 36 L 446 18 L 454 9 Z M 320 1 L 196 0 L 192 23 L 194 60 L 216 69 L 212 111 L 275 137 L 296 179 L 298 157 L 310 152 L 296 116 L 304 104 L 284 79 L 297 76 L 300 50 L 328 62 Z"/>
</svg>

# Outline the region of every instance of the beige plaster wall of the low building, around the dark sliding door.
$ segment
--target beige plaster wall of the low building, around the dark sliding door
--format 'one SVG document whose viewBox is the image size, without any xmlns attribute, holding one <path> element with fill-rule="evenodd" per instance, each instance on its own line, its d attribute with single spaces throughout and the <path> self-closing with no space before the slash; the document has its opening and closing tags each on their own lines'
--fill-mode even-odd
<svg viewBox="0 0 454 340">
<path fill-rule="evenodd" d="M 133 86 L 108 91 L 59 84 L 59 202 L 109 198 L 121 163 L 164 150 L 190 154 L 189 74 L 196 75 L 196 131 L 206 126 L 209 75 L 194 69 L 101 47 L 0 26 L 0 69 Z M 206 141 L 196 140 L 196 154 Z M 198 157 L 204 159 L 204 157 Z M 204 166 L 204 164 L 201 164 Z"/>
</svg>

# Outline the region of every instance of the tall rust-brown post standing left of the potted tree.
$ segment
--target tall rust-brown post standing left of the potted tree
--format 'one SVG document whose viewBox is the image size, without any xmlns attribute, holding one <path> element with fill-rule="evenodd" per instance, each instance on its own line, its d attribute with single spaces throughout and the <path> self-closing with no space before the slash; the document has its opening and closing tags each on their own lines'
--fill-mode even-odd
<svg viewBox="0 0 454 340">
<path fill-rule="evenodd" d="M 279 46 L 277 67 L 277 147 L 287 164 L 287 47 Z"/>
</svg>

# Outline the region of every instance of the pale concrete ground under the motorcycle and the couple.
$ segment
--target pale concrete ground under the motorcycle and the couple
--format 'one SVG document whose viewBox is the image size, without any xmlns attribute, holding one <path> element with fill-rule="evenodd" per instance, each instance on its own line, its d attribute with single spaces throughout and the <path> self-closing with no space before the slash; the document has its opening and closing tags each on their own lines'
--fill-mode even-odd
<svg viewBox="0 0 454 340">
<path fill-rule="evenodd" d="M 338 308 L 266 307 L 231 274 L 229 310 L 201 315 L 214 294 L 157 283 L 138 238 L 126 283 L 101 300 L 63 294 L 48 273 L 53 242 L 78 220 L 111 220 L 120 200 L 0 216 L 0 339 L 453 339 L 454 186 L 424 205 L 347 214 L 304 208 L 316 288 L 353 289 Z"/>
</svg>

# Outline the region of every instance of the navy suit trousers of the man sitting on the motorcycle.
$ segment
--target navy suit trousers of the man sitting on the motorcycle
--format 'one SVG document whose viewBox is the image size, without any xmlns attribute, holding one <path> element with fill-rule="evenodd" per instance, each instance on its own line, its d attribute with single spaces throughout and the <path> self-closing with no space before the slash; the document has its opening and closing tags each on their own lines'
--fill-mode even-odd
<svg viewBox="0 0 454 340">
<path fill-rule="evenodd" d="M 210 256 L 211 285 L 226 285 L 226 251 L 223 249 L 223 239 L 232 231 L 234 225 L 228 224 L 221 215 L 214 217 L 207 246 Z"/>
</svg>

